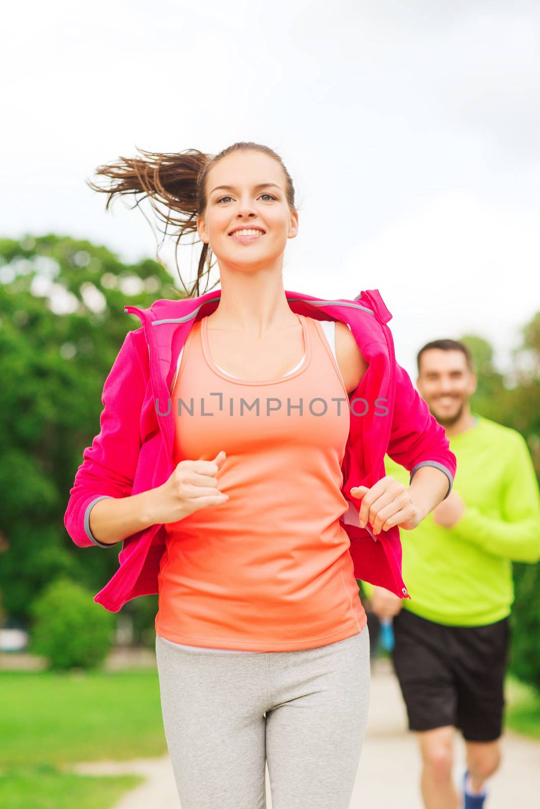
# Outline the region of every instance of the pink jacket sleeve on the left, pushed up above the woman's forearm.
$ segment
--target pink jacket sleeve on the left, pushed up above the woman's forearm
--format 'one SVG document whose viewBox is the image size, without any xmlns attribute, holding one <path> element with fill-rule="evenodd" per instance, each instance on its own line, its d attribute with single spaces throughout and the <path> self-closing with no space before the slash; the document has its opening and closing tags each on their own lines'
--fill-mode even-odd
<svg viewBox="0 0 540 809">
<path fill-rule="evenodd" d="M 141 448 L 140 413 L 147 387 L 137 341 L 147 345 L 142 327 L 127 332 L 105 379 L 100 432 L 91 447 L 84 449 L 83 463 L 70 489 L 64 525 L 81 548 L 92 544 L 112 548 L 117 544 L 105 544 L 92 536 L 90 511 L 103 498 L 129 497 L 133 486 Z"/>
</svg>

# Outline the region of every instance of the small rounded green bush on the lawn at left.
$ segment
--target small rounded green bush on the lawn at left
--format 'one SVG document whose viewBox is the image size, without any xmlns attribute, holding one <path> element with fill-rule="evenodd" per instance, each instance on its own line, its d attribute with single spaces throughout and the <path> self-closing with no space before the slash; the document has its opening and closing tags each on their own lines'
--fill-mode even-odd
<svg viewBox="0 0 540 809">
<path fill-rule="evenodd" d="M 50 582 L 32 602 L 28 650 L 43 655 L 51 671 L 97 668 L 113 643 L 113 613 L 69 578 Z"/>
</svg>

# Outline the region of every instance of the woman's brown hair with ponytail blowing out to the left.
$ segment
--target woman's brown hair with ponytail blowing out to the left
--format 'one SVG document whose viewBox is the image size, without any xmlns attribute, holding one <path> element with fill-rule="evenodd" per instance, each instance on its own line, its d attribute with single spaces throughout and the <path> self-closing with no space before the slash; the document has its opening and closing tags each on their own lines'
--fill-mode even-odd
<svg viewBox="0 0 540 809">
<path fill-rule="evenodd" d="M 200 291 L 202 277 L 205 273 L 208 276 L 210 269 L 214 266 L 212 264 L 210 244 L 202 244 L 201 256 L 198 261 L 197 281 L 190 290 L 185 286 L 181 277 L 180 267 L 178 266 L 178 247 L 183 235 L 197 234 L 198 232 L 197 217 L 204 215 L 206 211 L 206 178 L 210 168 L 215 166 L 222 158 L 240 150 L 261 151 L 278 161 L 285 175 L 287 203 L 291 210 L 296 210 L 295 188 L 283 160 L 269 146 L 261 146 L 260 143 L 253 142 L 233 143 L 232 146 L 227 146 L 226 149 L 220 151 L 219 155 L 205 155 L 198 149 L 186 149 L 172 154 L 161 154 L 138 149 L 142 157 L 121 157 L 116 163 L 108 163 L 96 169 L 96 175 L 110 178 L 111 182 L 106 187 L 92 183 L 89 180 L 87 184 L 94 191 L 108 194 L 105 210 L 108 209 L 113 197 L 121 196 L 122 194 L 133 194 L 135 198 L 134 206 L 138 206 L 145 197 L 150 200 L 159 222 L 164 223 L 164 231 L 161 231 L 164 237 L 167 235 L 168 227 L 176 229 L 175 260 L 178 276 L 187 297 L 198 297 L 202 294 Z M 196 241 L 198 239 L 194 239 L 191 244 L 195 244 Z M 219 282 L 216 281 L 213 286 L 217 283 Z M 213 289 L 213 286 L 210 289 Z M 205 291 L 207 290 L 208 277 L 206 278 Z"/>
</svg>

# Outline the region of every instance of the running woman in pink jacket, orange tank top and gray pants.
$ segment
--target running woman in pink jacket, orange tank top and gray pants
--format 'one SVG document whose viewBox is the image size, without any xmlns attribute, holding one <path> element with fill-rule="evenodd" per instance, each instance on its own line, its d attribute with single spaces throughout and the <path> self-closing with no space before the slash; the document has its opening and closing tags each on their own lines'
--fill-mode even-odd
<svg viewBox="0 0 540 809">
<path fill-rule="evenodd" d="M 166 229 L 197 232 L 203 248 L 187 299 L 125 307 L 142 327 L 105 381 L 66 528 L 81 547 L 122 540 L 96 602 L 117 612 L 159 592 L 183 809 L 264 807 L 266 762 L 274 809 L 347 809 L 369 694 L 355 575 L 406 596 L 398 526 L 448 496 L 448 439 L 395 362 L 377 290 L 284 290 L 299 217 L 273 150 L 145 152 L 98 173 L 108 201 L 149 197 Z M 210 250 L 221 289 L 200 295 Z M 409 486 L 385 476 L 387 449 Z M 366 493 L 376 501 L 359 524 Z"/>
</svg>

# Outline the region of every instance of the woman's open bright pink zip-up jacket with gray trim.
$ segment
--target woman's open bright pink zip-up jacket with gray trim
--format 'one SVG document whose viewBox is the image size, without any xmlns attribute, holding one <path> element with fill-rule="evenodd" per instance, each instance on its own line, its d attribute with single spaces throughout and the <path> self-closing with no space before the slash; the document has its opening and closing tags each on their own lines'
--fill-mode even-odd
<svg viewBox="0 0 540 809">
<path fill-rule="evenodd" d="M 449 479 L 448 497 L 456 473 L 455 455 L 443 427 L 396 362 L 387 325 L 392 316 L 378 290 L 361 292 L 353 300 L 285 293 L 291 310 L 300 315 L 347 323 L 368 362 L 368 371 L 350 395 L 351 428 L 341 489 L 349 509 L 340 523 L 351 540 L 355 578 L 410 598 L 402 579 L 398 527 L 376 537 L 369 524 L 360 528 L 361 500 L 350 489 L 371 487 L 385 477 L 383 458 L 388 452 L 409 470 L 411 480 L 423 466 L 440 469 Z M 79 547 L 113 547 L 91 534 L 90 511 L 96 502 L 154 489 L 172 475 L 175 425 L 169 389 L 176 361 L 193 324 L 215 311 L 220 295 L 221 290 L 213 290 L 198 298 L 161 299 L 147 309 L 124 307 L 138 315 L 142 326 L 127 332 L 105 380 L 100 433 L 83 451 L 83 463 L 70 489 L 64 524 Z M 118 570 L 94 601 L 118 612 L 130 599 L 157 593 L 165 536 L 164 525 L 154 524 L 125 537 Z"/>
</svg>

